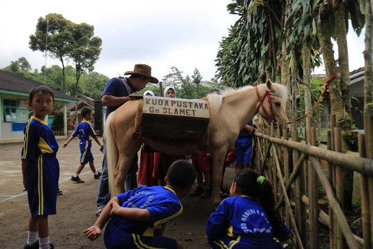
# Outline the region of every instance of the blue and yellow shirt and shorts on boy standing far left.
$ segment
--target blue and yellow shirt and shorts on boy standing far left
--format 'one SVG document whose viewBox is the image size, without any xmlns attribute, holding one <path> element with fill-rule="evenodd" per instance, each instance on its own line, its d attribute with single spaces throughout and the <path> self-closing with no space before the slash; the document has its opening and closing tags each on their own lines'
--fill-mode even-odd
<svg viewBox="0 0 373 249">
<path fill-rule="evenodd" d="M 21 158 L 29 160 L 26 189 L 32 217 L 56 214 L 59 163 L 58 143 L 45 120 L 32 116 L 23 130 Z"/>
</svg>

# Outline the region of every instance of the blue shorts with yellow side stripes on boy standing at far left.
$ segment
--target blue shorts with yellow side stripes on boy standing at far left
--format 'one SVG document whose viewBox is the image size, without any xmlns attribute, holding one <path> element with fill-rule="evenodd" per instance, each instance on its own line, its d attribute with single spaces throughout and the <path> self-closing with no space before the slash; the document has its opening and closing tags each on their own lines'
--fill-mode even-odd
<svg viewBox="0 0 373 249">
<path fill-rule="evenodd" d="M 32 217 L 56 214 L 59 163 L 55 155 L 41 154 L 26 172 L 28 205 Z"/>
</svg>

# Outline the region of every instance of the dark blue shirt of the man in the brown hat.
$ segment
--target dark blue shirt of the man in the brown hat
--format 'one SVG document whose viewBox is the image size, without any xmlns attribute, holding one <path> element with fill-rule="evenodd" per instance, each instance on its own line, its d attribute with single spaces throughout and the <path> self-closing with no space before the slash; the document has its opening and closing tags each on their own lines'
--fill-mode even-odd
<svg viewBox="0 0 373 249">
<path fill-rule="evenodd" d="M 125 77 L 124 80 L 128 83 L 128 86 L 130 86 L 132 93 L 136 93 L 135 89 L 133 89 L 133 86 L 130 82 L 130 80 Z M 115 97 L 128 97 L 129 93 L 126 89 L 126 86 L 122 82 L 122 79 L 118 77 L 113 77 L 111 80 L 108 81 L 108 83 L 105 86 L 104 92 L 101 95 L 112 95 Z M 122 104 L 118 104 L 115 107 L 106 107 L 106 118 L 108 118 L 109 114 L 118 109 Z"/>
</svg>

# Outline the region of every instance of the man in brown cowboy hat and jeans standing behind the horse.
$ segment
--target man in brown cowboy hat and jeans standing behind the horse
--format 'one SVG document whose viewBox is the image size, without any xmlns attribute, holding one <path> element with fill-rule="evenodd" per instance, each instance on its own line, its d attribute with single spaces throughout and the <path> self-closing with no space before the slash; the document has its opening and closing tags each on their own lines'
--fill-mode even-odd
<svg viewBox="0 0 373 249">
<path fill-rule="evenodd" d="M 106 118 L 110 113 L 118 109 L 122 104 L 130 101 L 129 95 L 139 95 L 136 91 L 144 89 L 146 84 L 158 83 L 155 77 L 151 76 L 151 67 L 145 64 L 135 64 L 133 71 L 126 71 L 124 75 L 130 77 L 113 77 L 105 86 L 102 93 L 102 104 L 106 106 Z M 105 205 L 110 201 L 111 196 L 108 187 L 108 163 L 106 160 L 106 146 L 104 143 L 104 159 L 102 160 L 102 175 L 97 191 L 97 213 L 99 216 Z M 128 169 L 126 178 L 126 189 L 133 190 L 137 187 L 136 172 L 138 170 L 137 154 L 133 163 Z"/>
</svg>

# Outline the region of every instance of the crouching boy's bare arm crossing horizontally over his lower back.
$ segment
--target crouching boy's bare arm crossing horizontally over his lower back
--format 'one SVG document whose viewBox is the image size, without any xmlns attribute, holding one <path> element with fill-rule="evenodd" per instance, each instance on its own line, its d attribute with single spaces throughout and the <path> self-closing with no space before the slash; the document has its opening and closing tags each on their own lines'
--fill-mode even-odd
<svg viewBox="0 0 373 249">
<path fill-rule="evenodd" d="M 149 210 L 145 208 L 122 208 L 119 203 L 111 203 L 111 216 L 121 216 L 126 219 L 140 222 L 152 222 Z"/>
</svg>

